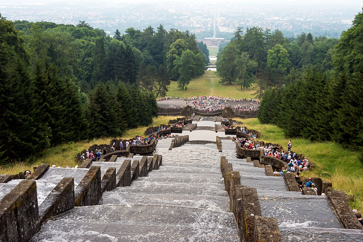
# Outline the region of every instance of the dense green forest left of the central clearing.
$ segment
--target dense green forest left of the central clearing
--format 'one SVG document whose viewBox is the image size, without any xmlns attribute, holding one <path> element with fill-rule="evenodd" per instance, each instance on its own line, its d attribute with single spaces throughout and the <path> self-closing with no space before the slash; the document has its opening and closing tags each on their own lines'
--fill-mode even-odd
<svg viewBox="0 0 363 242">
<path fill-rule="evenodd" d="M 83 21 L 12 22 L 1 15 L 0 45 L 3 164 L 149 125 L 170 77 L 183 88 L 208 59 L 194 35 L 163 26 L 116 30 L 111 38 Z"/>
</svg>

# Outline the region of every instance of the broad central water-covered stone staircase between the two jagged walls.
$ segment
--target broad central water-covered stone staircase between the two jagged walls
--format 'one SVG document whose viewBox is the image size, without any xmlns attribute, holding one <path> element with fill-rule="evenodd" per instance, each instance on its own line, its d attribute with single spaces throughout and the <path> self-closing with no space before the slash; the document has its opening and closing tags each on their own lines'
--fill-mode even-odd
<svg viewBox="0 0 363 242">
<path fill-rule="evenodd" d="M 30 241 L 240 241 L 216 145 L 168 146 L 169 139 L 157 144 L 158 170 L 106 191 L 99 205 L 53 217 Z"/>
</svg>

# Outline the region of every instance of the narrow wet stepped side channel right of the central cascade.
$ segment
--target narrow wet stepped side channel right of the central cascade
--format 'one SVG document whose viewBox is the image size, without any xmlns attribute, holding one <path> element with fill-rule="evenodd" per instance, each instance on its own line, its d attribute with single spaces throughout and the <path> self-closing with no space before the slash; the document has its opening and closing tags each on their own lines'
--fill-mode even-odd
<svg viewBox="0 0 363 242">
<path fill-rule="evenodd" d="M 363 241 L 362 230 L 344 229 L 326 196 L 290 192 L 284 177 L 266 176 L 264 168 L 236 158 L 231 140 L 222 140 L 222 150 L 241 185 L 256 188 L 261 216 L 277 219 L 282 242 Z"/>
</svg>

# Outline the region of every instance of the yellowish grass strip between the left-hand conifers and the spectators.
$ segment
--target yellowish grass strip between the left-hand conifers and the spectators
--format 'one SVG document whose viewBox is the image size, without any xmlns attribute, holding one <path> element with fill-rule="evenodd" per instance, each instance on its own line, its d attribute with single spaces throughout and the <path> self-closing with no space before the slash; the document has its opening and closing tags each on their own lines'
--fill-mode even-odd
<svg viewBox="0 0 363 242">
<path fill-rule="evenodd" d="M 176 119 L 177 117 L 172 116 L 159 116 L 154 118 L 150 126 L 159 126 L 161 124 L 167 124 L 169 120 Z M 140 126 L 135 129 L 130 129 L 126 131 L 119 139 L 129 139 L 135 137 L 137 135 L 144 136 L 144 132 L 148 127 Z M 50 164 L 56 166 L 72 166 L 75 167 L 76 165 L 80 165 L 81 163 L 76 162 L 75 158 L 77 153 L 88 149 L 93 144 L 108 144 L 112 137 L 103 137 L 103 138 L 96 138 L 89 141 L 79 141 L 79 142 L 69 142 L 68 144 L 62 144 L 55 147 L 51 147 L 44 151 L 42 157 L 35 160 L 34 163 L 26 163 L 20 162 L 15 164 L 9 164 L 6 166 L 0 166 L 0 174 L 17 174 L 20 171 L 30 170 L 33 171 L 34 166 L 39 166 L 40 164 Z"/>
</svg>

